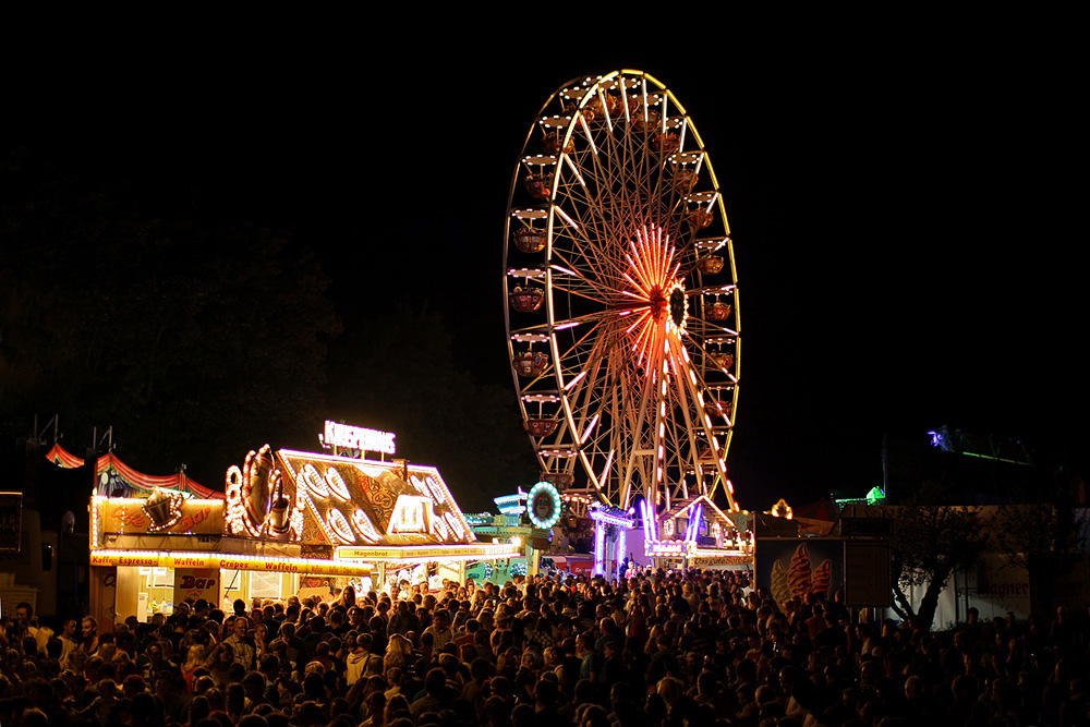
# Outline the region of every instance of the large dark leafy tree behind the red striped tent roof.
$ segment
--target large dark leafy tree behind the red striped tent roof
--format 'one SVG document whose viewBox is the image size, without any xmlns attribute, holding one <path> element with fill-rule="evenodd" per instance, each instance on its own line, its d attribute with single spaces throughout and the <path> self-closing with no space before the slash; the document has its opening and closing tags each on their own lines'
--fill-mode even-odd
<svg viewBox="0 0 1090 727">
<path fill-rule="evenodd" d="M 7 162 L 3 434 L 58 413 L 80 452 L 112 425 L 138 469 L 185 462 L 211 487 L 266 440 L 314 441 L 340 324 L 320 267 L 287 234 L 198 197 L 164 205 L 124 181 Z"/>
</svg>

